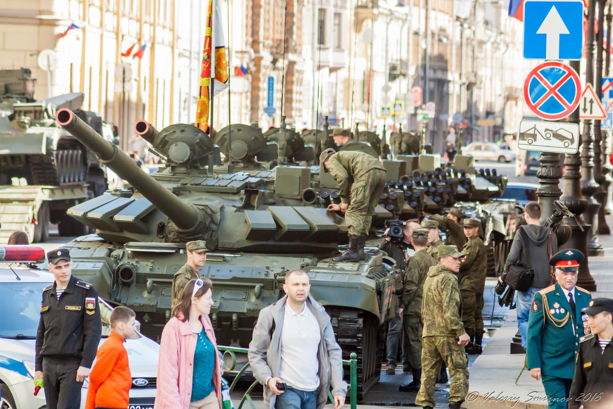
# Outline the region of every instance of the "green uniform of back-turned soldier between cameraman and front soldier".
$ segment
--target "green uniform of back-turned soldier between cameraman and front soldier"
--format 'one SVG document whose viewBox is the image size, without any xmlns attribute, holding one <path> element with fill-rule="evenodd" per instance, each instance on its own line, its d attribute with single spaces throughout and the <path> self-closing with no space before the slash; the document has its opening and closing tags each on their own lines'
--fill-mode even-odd
<svg viewBox="0 0 613 409">
<path fill-rule="evenodd" d="M 430 267 L 436 266 L 436 261 L 426 250 L 419 250 L 406 265 L 400 308 L 404 308 L 403 329 L 405 331 L 408 363 L 413 369 L 421 369 L 422 341 L 422 295 L 424 281 Z"/>
</svg>

